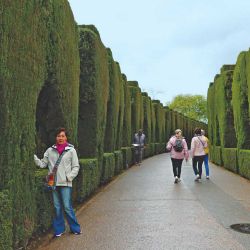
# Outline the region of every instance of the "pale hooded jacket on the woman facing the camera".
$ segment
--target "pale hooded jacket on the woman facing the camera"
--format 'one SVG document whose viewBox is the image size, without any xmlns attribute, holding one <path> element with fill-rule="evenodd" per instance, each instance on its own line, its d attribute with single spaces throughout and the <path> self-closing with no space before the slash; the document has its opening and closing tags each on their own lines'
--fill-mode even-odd
<svg viewBox="0 0 250 250">
<path fill-rule="evenodd" d="M 68 186 L 72 187 L 72 181 L 79 172 L 79 161 L 74 146 L 69 144 L 65 147 L 66 152 L 62 156 L 61 162 L 56 172 L 56 186 Z M 35 163 L 40 168 L 49 168 L 49 173 L 55 166 L 59 153 L 56 149 L 56 145 L 48 148 L 44 153 L 43 159 L 35 159 Z"/>
</svg>

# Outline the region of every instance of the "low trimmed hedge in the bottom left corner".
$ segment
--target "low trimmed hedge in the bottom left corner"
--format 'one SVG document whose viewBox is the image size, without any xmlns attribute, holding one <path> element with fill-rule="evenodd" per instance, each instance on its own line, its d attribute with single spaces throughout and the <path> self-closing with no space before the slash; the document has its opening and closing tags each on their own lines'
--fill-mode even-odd
<svg viewBox="0 0 250 250">
<path fill-rule="evenodd" d="M 12 201 L 10 192 L 0 192 L 0 249 L 13 249 Z"/>
</svg>

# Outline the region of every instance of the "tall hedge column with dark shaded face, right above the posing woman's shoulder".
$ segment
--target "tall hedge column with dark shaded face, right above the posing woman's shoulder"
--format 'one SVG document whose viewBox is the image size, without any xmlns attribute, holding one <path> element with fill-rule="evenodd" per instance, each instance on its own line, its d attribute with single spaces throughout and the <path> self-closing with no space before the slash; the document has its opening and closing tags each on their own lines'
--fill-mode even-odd
<svg viewBox="0 0 250 250">
<path fill-rule="evenodd" d="M 109 96 L 108 56 L 94 26 L 79 26 L 79 35 L 79 155 L 97 158 L 101 169 Z"/>
</svg>

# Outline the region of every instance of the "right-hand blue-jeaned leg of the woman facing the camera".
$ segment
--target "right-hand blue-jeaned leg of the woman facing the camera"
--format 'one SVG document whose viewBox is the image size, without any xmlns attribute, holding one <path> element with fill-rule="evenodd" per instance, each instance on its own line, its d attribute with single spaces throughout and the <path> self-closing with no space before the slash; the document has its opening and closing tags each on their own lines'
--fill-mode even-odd
<svg viewBox="0 0 250 250">
<path fill-rule="evenodd" d="M 66 218 L 67 218 L 70 230 L 72 233 L 80 233 L 81 227 L 77 222 L 75 212 L 74 212 L 74 209 L 72 207 L 71 193 L 72 193 L 71 187 L 62 187 L 61 188 L 61 196 L 62 196 L 64 211 L 66 213 Z"/>
</svg>

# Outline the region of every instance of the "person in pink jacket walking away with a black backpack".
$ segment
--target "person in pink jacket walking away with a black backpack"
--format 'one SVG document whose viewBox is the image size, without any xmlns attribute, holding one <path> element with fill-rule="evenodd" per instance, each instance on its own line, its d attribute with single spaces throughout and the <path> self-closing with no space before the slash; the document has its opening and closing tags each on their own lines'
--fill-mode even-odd
<svg viewBox="0 0 250 250">
<path fill-rule="evenodd" d="M 186 161 L 188 161 L 189 157 L 187 142 L 184 137 L 182 137 L 182 131 L 180 129 L 175 130 L 175 135 L 169 139 L 166 148 L 170 151 L 171 155 L 174 183 L 178 183 L 181 181 L 183 159 L 185 158 Z"/>
</svg>

